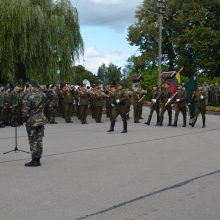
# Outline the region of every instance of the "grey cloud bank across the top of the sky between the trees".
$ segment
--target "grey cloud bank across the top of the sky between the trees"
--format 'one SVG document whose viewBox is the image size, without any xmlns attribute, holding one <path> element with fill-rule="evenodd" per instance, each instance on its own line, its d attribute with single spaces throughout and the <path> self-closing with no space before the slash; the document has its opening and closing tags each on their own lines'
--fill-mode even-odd
<svg viewBox="0 0 220 220">
<path fill-rule="evenodd" d="M 105 26 L 123 32 L 134 23 L 135 10 L 143 0 L 71 0 L 85 26 Z"/>
</svg>

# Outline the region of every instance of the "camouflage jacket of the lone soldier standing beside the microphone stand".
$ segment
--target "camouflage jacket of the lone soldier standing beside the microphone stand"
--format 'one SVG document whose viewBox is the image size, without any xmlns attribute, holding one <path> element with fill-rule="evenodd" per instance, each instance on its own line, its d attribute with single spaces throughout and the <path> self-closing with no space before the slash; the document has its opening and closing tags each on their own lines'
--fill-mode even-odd
<svg viewBox="0 0 220 220">
<path fill-rule="evenodd" d="M 28 93 L 22 100 L 22 120 L 28 126 L 37 127 L 46 124 L 44 115 L 45 94 L 40 91 Z"/>
</svg>

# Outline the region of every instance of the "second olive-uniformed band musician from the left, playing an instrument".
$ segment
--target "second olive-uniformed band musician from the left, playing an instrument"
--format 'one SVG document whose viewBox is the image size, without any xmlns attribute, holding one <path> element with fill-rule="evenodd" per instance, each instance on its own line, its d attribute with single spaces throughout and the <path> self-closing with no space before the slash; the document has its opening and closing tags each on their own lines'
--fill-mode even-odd
<svg viewBox="0 0 220 220">
<path fill-rule="evenodd" d="M 89 95 L 86 88 L 80 88 L 78 92 L 78 105 L 80 107 L 80 120 L 82 124 L 87 124 L 88 115 L 88 105 L 89 105 Z"/>
</svg>

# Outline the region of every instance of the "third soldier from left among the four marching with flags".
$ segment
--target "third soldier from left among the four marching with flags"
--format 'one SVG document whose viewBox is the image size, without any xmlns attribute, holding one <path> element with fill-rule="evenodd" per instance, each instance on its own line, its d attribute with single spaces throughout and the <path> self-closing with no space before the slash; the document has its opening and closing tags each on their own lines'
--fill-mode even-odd
<svg viewBox="0 0 220 220">
<path fill-rule="evenodd" d="M 186 127 L 186 90 L 183 88 L 181 84 L 178 85 L 177 93 L 176 93 L 176 108 L 175 108 L 175 118 L 172 126 L 177 126 L 179 113 L 183 115 L 183 127 Z"/>
</svg>

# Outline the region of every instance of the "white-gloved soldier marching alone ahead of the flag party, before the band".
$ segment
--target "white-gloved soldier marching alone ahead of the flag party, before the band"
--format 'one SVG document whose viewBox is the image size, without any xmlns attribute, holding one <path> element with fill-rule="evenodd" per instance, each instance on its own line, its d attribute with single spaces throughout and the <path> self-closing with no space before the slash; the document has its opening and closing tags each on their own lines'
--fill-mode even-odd
<svg viewBox="0 0 220 220">
<path fill-rule="evenodd" d="M 116 118 L 120 115 L 123 121 L 123 131 L 121 133 L 127 133 L 127 99 L 127 90 L 123 88 L 121 84 L 117 85 L 115 99 L 113 101 L 115 106 L 113 108 L 111 125 L 108 132 L 114 131 Z"/>
</svg>

